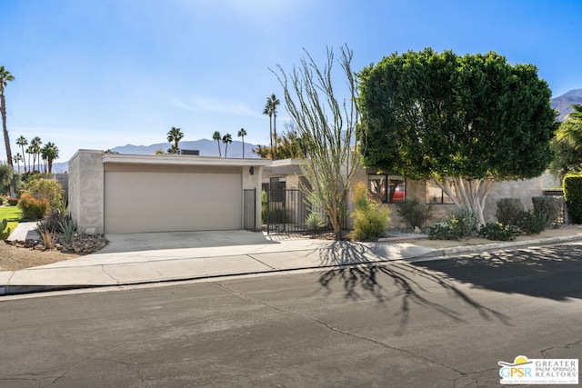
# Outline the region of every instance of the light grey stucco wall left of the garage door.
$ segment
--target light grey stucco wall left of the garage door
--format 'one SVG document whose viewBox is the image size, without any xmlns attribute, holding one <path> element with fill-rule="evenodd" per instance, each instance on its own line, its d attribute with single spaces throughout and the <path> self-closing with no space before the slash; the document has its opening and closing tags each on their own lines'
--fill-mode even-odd
<svg viewBox="0 0 582 388">
<path fill-rule="evenodd" d="M 83 234 L 104 233 L 103 152 L 79 150 L 69 161 L 69 210 Z"/>
</svg>

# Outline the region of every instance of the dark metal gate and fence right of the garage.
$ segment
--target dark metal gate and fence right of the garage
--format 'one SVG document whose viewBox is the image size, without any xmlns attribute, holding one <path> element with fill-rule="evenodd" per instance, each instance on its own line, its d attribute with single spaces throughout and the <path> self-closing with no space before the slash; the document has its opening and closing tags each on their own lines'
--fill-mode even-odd
<svg viewBox="0 0 582 388">
<path fill-rule="evenodd" d="M 262 217 L 267 233 L 306 232 L 306 218 L 311 213 L 320 214 L 324 224 L 329 224 L 323 210 L 309 204 L 306 194 L 299 189 L 273 189 L 264 193 Z"/>
</svg>

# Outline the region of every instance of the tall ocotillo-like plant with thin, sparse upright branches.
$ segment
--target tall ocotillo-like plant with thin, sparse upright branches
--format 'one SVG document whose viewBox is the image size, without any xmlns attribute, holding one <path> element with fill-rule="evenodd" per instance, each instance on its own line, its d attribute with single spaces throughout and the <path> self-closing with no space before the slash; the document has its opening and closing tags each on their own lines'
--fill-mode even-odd
<svg viewBox="0 0 582 388">
<path fill-rule="evenodd" d="M 320 205 L 334 229 L 342 232 L 346 218 L 346 201 L 359 162 L 352 150 L 358 111 L 356 79 L 351 70 L 353 53 L 342 47 L 338 60 L 347 90 L 345 98 L 336 94 L 332 80 L 334 52 L 327 50 L 326 64 L 321 67 L 306 53 L 301 65 L 289 74 L 279 68 L 277 75 L 285 91 L 286 110 L 306 153 L 301 170 L 311 185 L 302 187 L 311 204 Z"/>
</svg>

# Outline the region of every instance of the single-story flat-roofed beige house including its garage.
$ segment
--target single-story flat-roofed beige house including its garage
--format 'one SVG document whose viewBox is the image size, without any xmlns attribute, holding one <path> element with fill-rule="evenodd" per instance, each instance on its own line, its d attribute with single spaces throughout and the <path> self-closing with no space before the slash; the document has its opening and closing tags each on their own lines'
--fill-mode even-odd
<svg viewBox="0 0 582 388">
<path fill-rule="evenodd" d="M 69 162 L 69 209 L 85 234 L 129 234 L 198 230 L 260 230 L 261 190 L 286 189 L 272 198 L 286 223 L 304 224 L 314 211 L 298 188 L 308 187 L 301 160 L 220 158 L 198 155 L 105 154 L 79 150 Z M 387 204 L 391 225 L 404 226 L 396 204 L 416 197 L 432 209 L 432 222 L 447 218 L 454 205 L 434 184 L 360 167 L 372 197 Z M 519 197 L 531 204 L 542 195 L 543 179 L 502 182 L 487 196 L 486 221 L 495 220 L 497 200 Z M 296 190 L 288 190 L 296 189 Z M 349 203 L 347 211 L 354 210 Z M 281 212 L 279 212 L 281 213 Z M 351 227 L 347 220 L 346 227 Z"/>
</svg>

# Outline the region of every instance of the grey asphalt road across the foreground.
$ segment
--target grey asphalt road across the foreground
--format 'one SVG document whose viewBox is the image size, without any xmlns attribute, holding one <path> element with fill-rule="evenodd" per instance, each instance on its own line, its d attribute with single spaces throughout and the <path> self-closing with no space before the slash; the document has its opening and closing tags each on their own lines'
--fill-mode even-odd
<svg viewBox="0 0 582 388">
<path fill-rule="evenodd" d="M 0 387 L 499 386 L 581 358 L 582 245 L 0 298 Z"/>
</svg>

